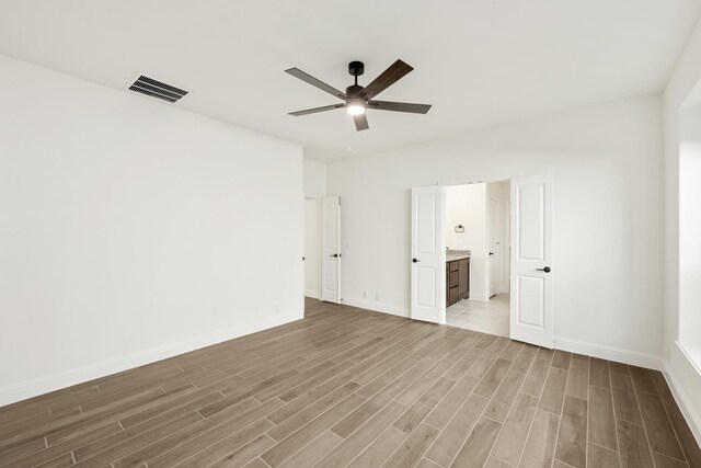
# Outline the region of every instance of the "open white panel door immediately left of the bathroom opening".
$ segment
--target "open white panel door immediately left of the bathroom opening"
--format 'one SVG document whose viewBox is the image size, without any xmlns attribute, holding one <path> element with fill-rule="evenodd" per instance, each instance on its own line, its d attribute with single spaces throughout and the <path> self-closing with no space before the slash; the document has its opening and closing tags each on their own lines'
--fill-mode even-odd
<svg viewBox="0 0 701 468">
<path fill-rule="evenodd" d="M 441 186 L 412 189 L 411 317 L 446 322 L 445 199 Z"/>
</svg>

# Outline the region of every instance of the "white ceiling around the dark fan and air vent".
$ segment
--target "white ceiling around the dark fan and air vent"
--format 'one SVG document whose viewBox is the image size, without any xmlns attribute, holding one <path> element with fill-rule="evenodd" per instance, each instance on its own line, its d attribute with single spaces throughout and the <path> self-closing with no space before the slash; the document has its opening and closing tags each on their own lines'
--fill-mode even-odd
<svg viewBox="0 0 701 468">
<path fill-rule="evenodd" d="M 334 160 L 659 92 L 700 13 L 699 0 L 0 0 L 0 54 L 117 89 L 142 72 L 191 91 L 163 105 Z M 336 101 L 285 69 L 343 90 L 348 61 L 367 84 L 398 58 L 415 70 L 378 99 L 427 115 L 370 111 L 360 133 L 342 110 L 287 115 Z"/>
</svg>

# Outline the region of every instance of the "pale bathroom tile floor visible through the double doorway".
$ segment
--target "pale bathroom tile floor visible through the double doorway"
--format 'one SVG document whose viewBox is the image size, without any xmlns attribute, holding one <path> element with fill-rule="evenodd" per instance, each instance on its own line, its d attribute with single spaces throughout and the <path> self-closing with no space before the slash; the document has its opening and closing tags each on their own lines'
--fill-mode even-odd
<svg viewBox="0 0 701 468">
<path fill-rule="evenodd" d="M 489 303 L 461 300 L 446 309 L 446 323 L 508 338 L 508 294 L 497 294 Z"/>
</svg>

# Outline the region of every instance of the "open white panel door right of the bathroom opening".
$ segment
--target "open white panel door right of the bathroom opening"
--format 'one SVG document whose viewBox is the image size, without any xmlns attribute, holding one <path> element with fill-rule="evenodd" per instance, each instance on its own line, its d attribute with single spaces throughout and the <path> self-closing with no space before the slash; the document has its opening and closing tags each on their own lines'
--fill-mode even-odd
<svg viewBox="0 0 701 468">
<path fill-rule="evenodd" d="M 510 338 L 553 347 L 553 176 L 512 181 Z"/>
</svg>

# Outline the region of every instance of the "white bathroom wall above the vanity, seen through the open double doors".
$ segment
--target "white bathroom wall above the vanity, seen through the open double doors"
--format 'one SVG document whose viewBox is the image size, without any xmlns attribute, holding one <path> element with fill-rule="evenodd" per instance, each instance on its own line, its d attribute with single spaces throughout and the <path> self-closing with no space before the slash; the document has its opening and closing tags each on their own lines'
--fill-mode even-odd
<svg viewBox="0 0 701 468">
<path fill-rule="evenodd" d="M 456 232 L 463 225 L 464 232 Z M 487 299 L 486 184 L 446 187 L 446 246 L 470 250 L 470 299 Z"/>
</svg>

